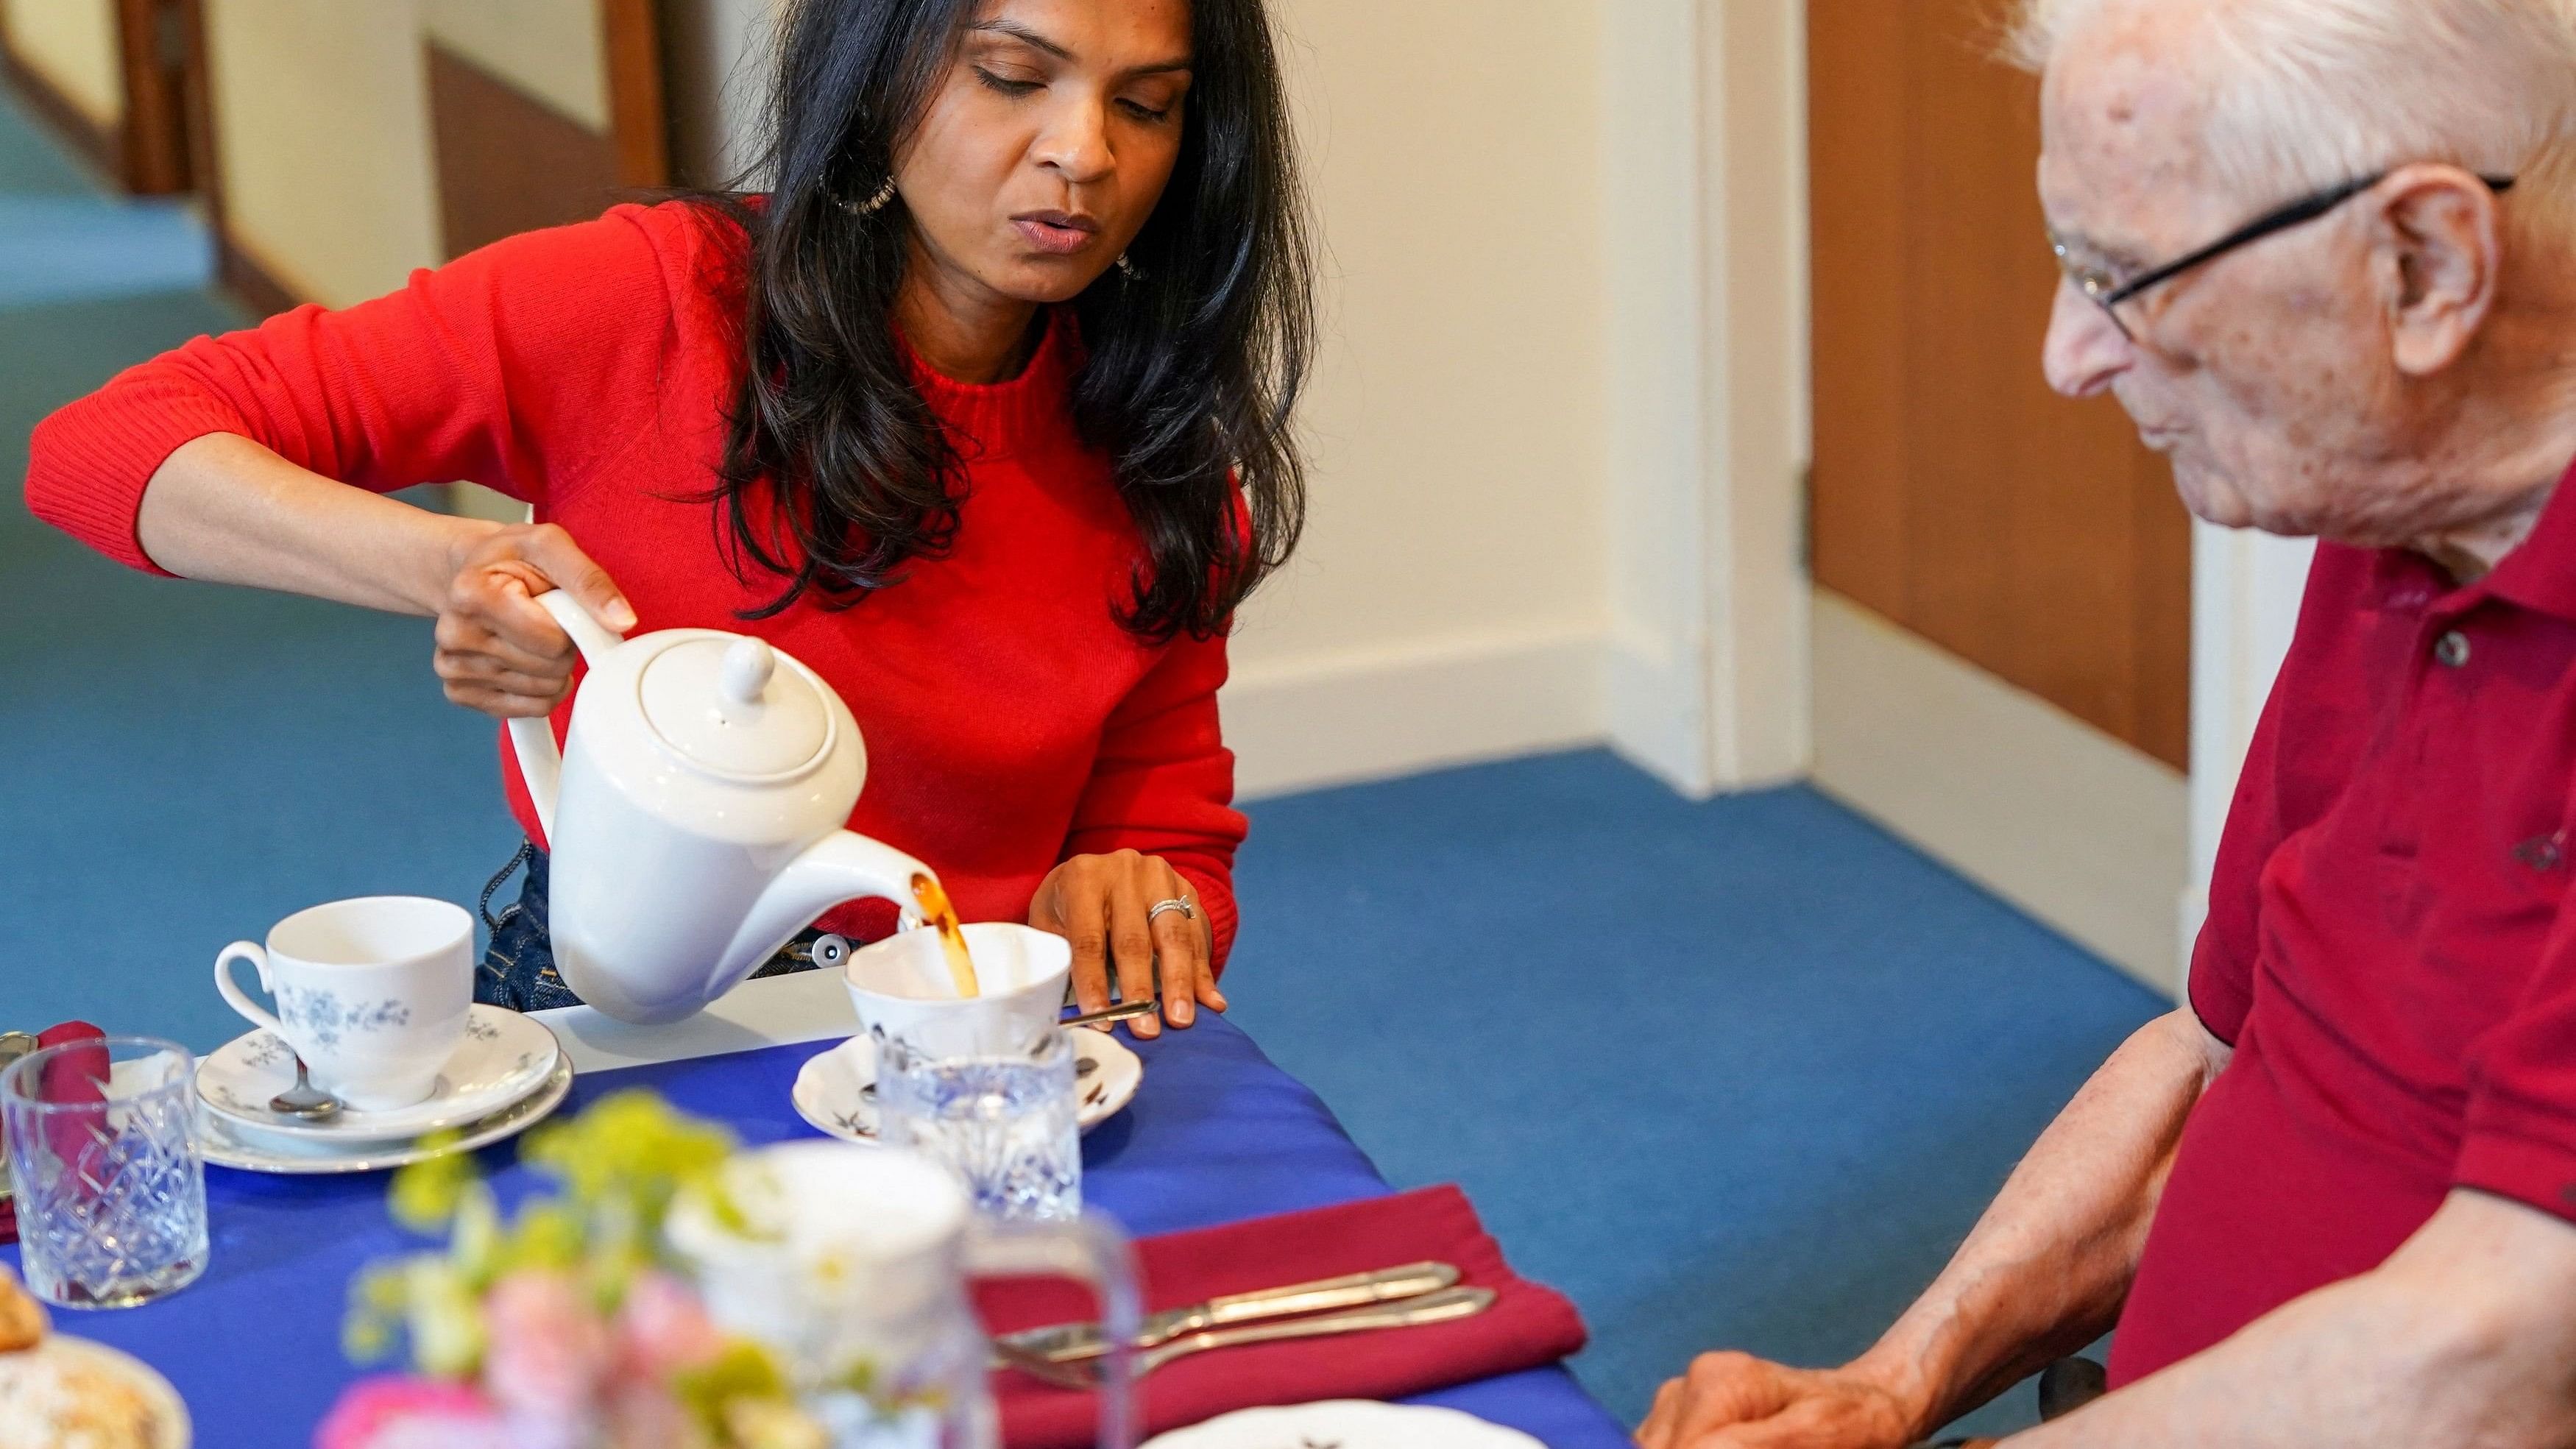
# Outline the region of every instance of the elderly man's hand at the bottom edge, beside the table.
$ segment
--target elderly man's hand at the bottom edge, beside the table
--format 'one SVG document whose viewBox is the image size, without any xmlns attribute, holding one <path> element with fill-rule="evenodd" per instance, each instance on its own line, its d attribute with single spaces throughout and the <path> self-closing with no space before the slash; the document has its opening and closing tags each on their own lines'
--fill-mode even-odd
<svg viewBox="0 0 2576 1449">
<path fill-rule="evenodd" d="M 1700 1354 L 1654 1395 L 1643 1449 L 1904 1449 L 1917 1408 L 1855 1369 Z"/>
</svg>

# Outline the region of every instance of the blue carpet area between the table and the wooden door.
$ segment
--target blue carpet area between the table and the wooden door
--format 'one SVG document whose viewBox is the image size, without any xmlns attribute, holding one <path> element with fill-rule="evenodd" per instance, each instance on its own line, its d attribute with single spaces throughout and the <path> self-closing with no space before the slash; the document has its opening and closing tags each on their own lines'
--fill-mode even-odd
<svg viewBox="0 0 2576 1449">
<path fill-rule="evenodd" d="M 1468 1186 L 1631 1421 L 1700 1349 L 1868 1346 L 2164 1009 L 1803 788 L 1587 752 L 1252 816 L 1236 1019 L 1399 1184 Z"/>
</svg>

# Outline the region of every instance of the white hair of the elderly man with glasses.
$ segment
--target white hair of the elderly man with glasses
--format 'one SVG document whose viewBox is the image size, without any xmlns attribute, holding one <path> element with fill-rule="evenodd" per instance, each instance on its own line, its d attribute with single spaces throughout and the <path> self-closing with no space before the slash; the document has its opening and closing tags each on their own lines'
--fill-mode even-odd
<svg viewBox="0 0 2576 1449">
<path fill-rule="evenodd" d="M 2045 69 L 2110 10 L 2197 8 L 2202 144 L 2249 203 L 2403 162 L 2527 175 L 2566 211 L 2576 0 L 2020 0 L 2007 54 Z"/>
</svg>

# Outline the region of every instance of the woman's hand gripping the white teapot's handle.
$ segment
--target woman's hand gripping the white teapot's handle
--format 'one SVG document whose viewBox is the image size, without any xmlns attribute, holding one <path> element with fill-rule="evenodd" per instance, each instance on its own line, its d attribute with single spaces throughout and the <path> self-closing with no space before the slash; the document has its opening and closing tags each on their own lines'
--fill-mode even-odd
<svg viewBox="0 0 2576 1449">
<path fill-rule="evenodd" d="M 497 522 L 464 535 L 438 605 L 438 679 L 448 700 L 492 718 L 544 715 L 572 690 L 572 638 L 536 602 L 569 589 L 590 618 L 626 633 L 636 613 L 608 571 L 551 522 Z"/>
</svg>

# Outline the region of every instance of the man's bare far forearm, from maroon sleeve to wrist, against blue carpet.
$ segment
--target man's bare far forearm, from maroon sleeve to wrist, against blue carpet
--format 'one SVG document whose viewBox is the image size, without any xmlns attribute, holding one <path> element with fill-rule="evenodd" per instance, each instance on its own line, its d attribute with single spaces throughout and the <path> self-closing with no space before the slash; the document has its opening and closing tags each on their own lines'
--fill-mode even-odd
<svg viewBox="0 0 2576 1449">
<path fill-rule="evenodd" d="M 1852 1369 L 1932 1428 L 2102 1336 L 2182 1122 L 2226 1063 L 2192 1014 L 2141 1027 L 2058 1112 L 1940 1279 Z"/>
</svg>

